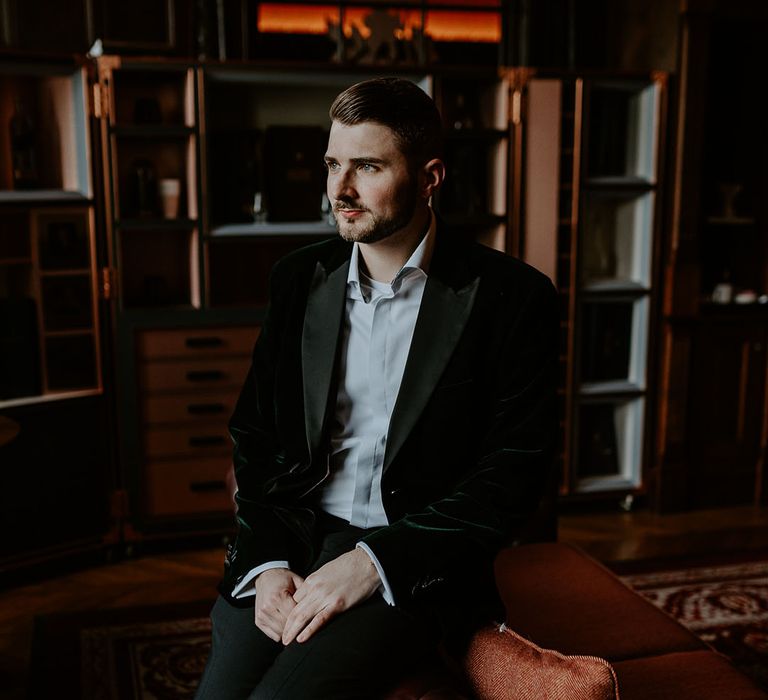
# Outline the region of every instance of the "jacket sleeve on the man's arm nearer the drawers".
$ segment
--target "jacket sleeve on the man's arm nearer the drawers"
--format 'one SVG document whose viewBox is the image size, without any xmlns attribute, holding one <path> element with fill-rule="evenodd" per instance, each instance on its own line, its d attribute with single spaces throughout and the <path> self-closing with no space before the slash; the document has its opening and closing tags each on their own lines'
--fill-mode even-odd
<svg viewBox="0 0 768 700">
<path fill-rule="evenodd" d="M 290 279 L 278 265 L 270 281 L 270 305 L 253 350 L 250 370 L 237 401 L 229 431 L 234 443 L 237 535 L 228 548 L 220 592 L 232 589 L 254 567 L 286 560 L 300 569 L 311 557 L 314 515 L 293 492 L 280 488 L 298 464 L 278 435 L 275 377 L 282 352 L 283 305 Z"/>
</svg>

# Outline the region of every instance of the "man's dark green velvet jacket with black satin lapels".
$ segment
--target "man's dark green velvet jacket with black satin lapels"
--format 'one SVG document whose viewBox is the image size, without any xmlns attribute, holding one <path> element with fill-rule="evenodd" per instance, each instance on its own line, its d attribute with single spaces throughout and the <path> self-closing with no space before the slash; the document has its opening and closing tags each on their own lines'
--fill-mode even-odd
<svg viewBox="0 0 768 700">
<path fill-rule="evenodd" d="M 316 500 L 351 244 L 299 250 L 271 301 L 230 421 L 238 534 L 221 593 L 253 567 L 318 554 Z M 519 260 L 438 228 L 382 476 L 390 525 L 364 538 L 398 605 L 495 596 L 493 559 L 536 509 L 557 432 L 557 295 Z"/>
</svg>

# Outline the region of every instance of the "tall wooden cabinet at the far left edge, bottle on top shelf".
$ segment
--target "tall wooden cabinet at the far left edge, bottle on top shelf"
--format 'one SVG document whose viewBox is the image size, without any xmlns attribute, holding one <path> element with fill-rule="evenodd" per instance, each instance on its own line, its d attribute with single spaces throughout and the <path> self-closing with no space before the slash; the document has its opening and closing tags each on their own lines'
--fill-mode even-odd
<svg viewBox="0 0 768 700">
<path fill-rule="evenodd" d="M 99 548 L 115 473 L 88 69 L 0 58 L 0 561 Z"/>
</svg>

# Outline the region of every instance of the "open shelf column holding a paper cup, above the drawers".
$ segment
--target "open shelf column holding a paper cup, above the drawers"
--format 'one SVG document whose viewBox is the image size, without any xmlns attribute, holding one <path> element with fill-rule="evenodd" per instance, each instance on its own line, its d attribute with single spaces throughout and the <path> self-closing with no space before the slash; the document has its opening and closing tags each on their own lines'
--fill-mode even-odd
<svg viewBox="0 0 768 700">
<path fill-rule="evenodd" d="M 106 223 L 122 309 L 201 303 L 197 71 L 97 62 Z"/>
</svg>

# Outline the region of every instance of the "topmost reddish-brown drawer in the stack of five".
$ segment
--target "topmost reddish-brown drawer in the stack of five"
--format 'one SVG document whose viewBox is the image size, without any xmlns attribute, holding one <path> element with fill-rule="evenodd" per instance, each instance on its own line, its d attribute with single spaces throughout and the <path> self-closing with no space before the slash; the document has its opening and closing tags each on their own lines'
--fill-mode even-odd
<svg viewBox="0 0 768 700">
<path fill-rule="evenodd" d="M 259 335 L 256 327 L 174 328 L 141 331 L 137 339 L 140 359 L 248 355 Z"/>
</svg>

